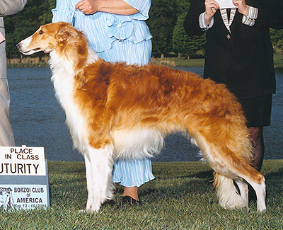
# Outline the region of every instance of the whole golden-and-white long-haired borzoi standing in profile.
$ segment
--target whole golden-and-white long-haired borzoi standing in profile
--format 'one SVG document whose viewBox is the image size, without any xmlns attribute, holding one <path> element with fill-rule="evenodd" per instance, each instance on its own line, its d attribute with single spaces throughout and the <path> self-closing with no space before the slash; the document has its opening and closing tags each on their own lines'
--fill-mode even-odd
<svg viewBox="0 0 283 230">
<path fill-rule="evenodd" d="M 250 166 L 253 148 L 246 119 L 223 84 L 154 64 L 105 62 L 68 23 L 41 26 L 18 48 L 23 54 L 50 52 L 56 95 L 74 146 L 86 160 L 86 209 L 98 211 L 112 198 L 115 159 L 153 156 L 167 134 L 183 132 L 214 169 L 222 207 L 247 206 L 248 182 L 258 211 L 265 210 L 265 178 Z"/>
</svg>

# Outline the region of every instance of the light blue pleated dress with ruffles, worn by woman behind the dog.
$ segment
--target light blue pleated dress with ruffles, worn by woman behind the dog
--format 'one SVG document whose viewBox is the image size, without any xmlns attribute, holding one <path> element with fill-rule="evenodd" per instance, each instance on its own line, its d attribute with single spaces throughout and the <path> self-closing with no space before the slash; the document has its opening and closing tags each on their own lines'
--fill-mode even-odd
<svg viewBox="0 0 283 230">
<path fill-rule="evenodd" d="M 98 12 L 85 15 L 75 5 L 80 0 L 57 0 L 52 22 L 72 23 L 83 31 L 99 57 L 108 62 L 147 64 L 151 59 L 151 34 L 145 21 L 149 18 L 151 0 L 124 0 L 139 13 L 121 16 Z M 125 187 L 139 187 L 154 179 L 150 159 L 115 161 L 112 179 Z"/>
</svg>

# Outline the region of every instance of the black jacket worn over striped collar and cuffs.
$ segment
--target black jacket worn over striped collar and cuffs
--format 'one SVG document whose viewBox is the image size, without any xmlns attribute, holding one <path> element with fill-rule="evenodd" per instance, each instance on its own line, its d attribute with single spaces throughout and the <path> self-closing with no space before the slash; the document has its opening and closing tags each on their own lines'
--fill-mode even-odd
<svg viewBox="0 0 283 230">
<path fill-rule="evenodd" d="M 229 40 L 229 31 L 216 11 L 214 25 L 207 30 L 204 65 L 204 78 L 226 84 L 240 99 L 275 93 L 269 28 L 283 28 L 282 0 L 246 0 L 246 4 L 258 8 L 255 25 L 244 25 L 243 15 L 237 11 Z M 198 18 L 204 11 L 204 1 L 192 0 L 184 22 L 187 35 L 202 33 Z"/>
</svg>

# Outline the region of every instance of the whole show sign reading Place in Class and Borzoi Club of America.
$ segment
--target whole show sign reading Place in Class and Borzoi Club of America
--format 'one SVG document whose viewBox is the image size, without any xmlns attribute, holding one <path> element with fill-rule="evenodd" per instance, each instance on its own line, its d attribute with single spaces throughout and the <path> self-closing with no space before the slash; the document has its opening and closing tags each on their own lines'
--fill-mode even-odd
<svg viewBox="0 0 283 230">
<path fill-rule="evenodd" d="M 49 204 L 44 148 L 0 146 L 0 208 L 33 209 Z"/>
</svg>

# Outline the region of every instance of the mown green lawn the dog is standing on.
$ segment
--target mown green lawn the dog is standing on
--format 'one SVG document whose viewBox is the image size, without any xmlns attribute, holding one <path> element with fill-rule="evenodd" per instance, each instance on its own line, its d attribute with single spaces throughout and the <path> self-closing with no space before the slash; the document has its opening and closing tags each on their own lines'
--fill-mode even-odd
<svg viewBox="0 0 283 230">
<path fill-rule="evenodd" d="M 283 160 L 264 161 L 267 210 L 227 210 L 219 206 L 212 170 L 201 162 L 153 163 L 155 180 L 142 185 L 142 205 L 98 213 L 86 206 L 86 178 L 81 162 L 49 162 L 51 206 L 46 210 L 0 211 L 0 229 L 283 229 Z M 116 186 L 119 201 L 122 187 Z"/>
</svg>

